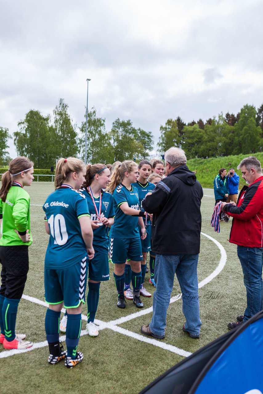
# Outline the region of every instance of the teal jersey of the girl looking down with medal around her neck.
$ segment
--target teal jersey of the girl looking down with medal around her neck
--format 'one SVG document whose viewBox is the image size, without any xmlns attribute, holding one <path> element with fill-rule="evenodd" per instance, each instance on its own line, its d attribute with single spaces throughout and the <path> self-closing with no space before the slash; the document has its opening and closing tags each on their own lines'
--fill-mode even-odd
<svg viewBox="0 0 263 394">
<path fill-rule="evenodd" d="M 90 212 L 90 220 L 98 220 L 97 219 L 97 213 L 95 211 L 90 192 L 88 191 L 87 188 L 83 188 L 80 190 L 81 193 L 84 194 L 86 197 L 87 203 L 88 203 L 88 208 Z M 114 217 L 114 208 L 113 208 L 113 199 L 112 195 L 110 193 L 107 193 L 106 191 L 101 190 L 102 193 L 102 200 L 101 200 L 101 217 Z M 93 196 L 97 211 L 99 212 L 99 197 Z M 93 229 L 93 243 L 92 243 L 94 249 L 97 249 L 101 251 L 101 253 L 104 253 L 108 255 L 109 251 L 109 239 L 106 236 L 106 228 L 105 226 L 101 226 L 98 229 Z"/>
</svg>

